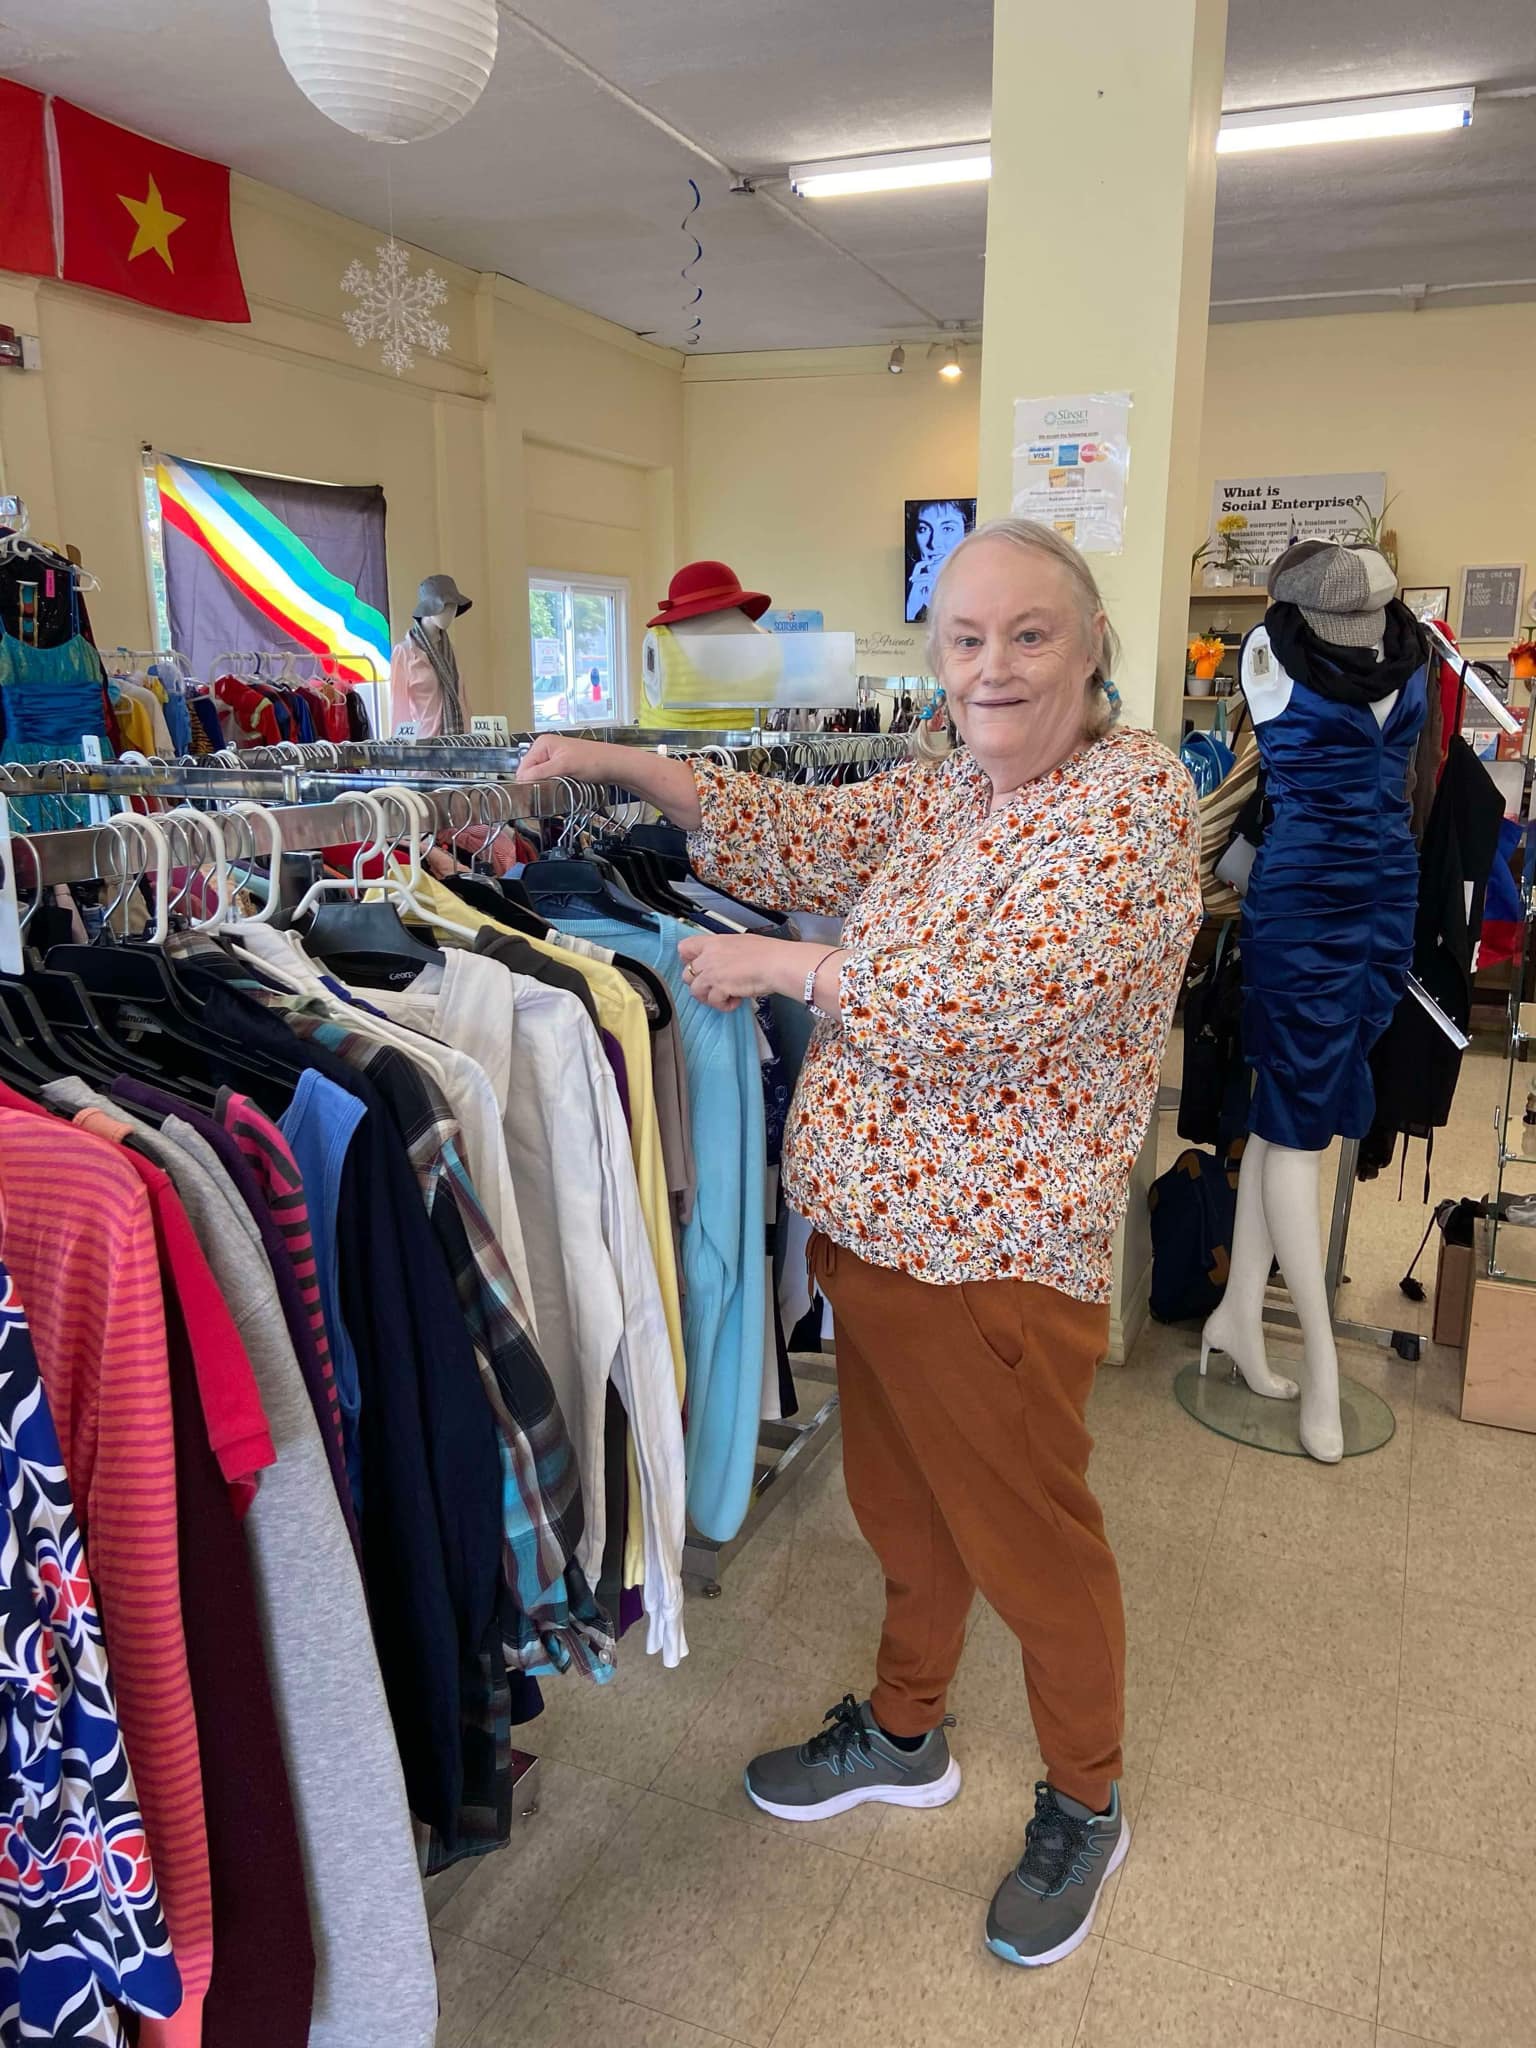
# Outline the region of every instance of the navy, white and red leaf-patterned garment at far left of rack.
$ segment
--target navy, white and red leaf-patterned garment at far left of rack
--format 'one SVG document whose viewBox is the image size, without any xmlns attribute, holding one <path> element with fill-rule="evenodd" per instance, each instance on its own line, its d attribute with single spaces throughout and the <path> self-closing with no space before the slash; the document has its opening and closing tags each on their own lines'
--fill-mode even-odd
<svg viewBox="0 0 1536 2048">
<path fill-rule="evenodd" d="M 0 2040 L 123 2040 L 182 1999 L 27 1313 L 0 1268 Z"/>
</svg>

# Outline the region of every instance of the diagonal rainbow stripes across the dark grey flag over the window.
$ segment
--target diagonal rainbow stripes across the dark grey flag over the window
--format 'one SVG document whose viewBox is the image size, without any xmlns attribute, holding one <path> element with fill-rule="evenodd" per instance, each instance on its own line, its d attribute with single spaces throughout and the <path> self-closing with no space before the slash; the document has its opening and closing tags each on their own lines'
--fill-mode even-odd
<svg viewBox="0 0 1536 2048">
<path fill-rule="evenodd" d="M 342 682 L 389 674 L 389 621 L 274 518 L 227 469 L 156 461 L 160 512 L 299 647 Z M 365 657 L 365 659 L 360 659 Z"/>
</svg>

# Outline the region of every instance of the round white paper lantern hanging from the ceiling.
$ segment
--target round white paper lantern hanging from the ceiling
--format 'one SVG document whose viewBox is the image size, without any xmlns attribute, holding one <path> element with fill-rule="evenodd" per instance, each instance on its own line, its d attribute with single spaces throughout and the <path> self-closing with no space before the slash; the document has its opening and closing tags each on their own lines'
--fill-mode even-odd
<svg viewBox="0 0 1536 2048">
<path fill-rule="evenodd" d="M 496 63 L 496 0 L 268 0 L 279 55 L 322 115 L 369 141 L 463 121 Z"/>
</svg>

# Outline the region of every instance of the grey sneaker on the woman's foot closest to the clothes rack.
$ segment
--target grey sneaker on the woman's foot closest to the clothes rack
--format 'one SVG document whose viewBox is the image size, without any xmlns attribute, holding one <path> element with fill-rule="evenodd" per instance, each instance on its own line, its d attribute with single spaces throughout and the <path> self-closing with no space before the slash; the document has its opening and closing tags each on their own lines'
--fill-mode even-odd
<svg viewBox="0 0 1536 2048">
<path fill-rule="evenodd" d="M 887 1806 L 948 1806 L 961 1790 L 961 1765 L 944 1726 L 920 1749 L 887 1743 L 868 1700 L 850 1694 L 825 1712 L 827 1726 L 799 1749 L 770 1749 L 748 1763 L 748 1798 L 778 1821 L 829 1821 L 866 1800 Z"/>
</svg>

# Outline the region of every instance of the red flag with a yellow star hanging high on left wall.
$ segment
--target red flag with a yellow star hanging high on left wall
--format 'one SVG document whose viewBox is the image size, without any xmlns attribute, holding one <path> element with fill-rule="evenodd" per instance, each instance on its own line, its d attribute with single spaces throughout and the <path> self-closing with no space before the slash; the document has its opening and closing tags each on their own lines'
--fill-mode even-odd
<svg viewBox="0 0 1536 2048">
<path fill-rule="evenodd" d="M 223 164 L 53 100 L 59 274 L 190 319 L 250 319 Z"/>
</svg>

